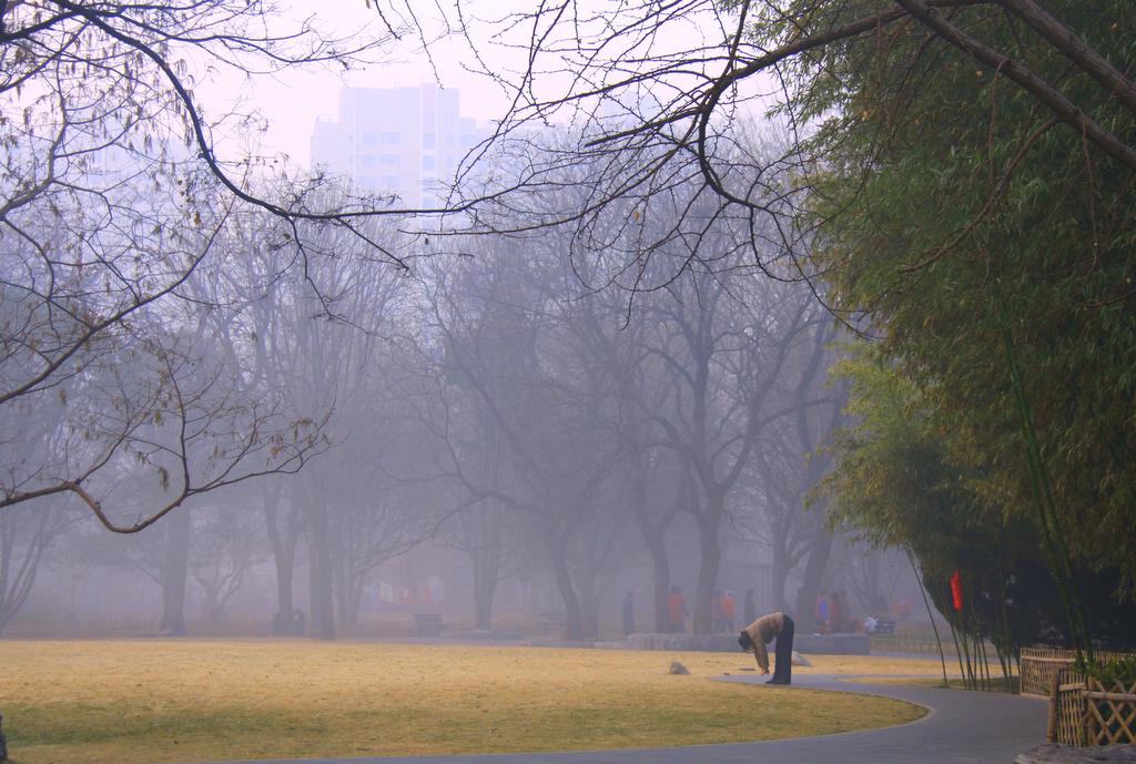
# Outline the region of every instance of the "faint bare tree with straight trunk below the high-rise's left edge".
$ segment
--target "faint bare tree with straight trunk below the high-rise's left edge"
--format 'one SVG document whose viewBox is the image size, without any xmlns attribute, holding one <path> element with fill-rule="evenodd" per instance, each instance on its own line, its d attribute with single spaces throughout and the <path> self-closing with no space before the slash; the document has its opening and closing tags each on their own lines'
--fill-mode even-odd
<svg viewBox="0 0 1136 764">
<path fill-rule="evenodd" d="M 374 460 L 382 447 L 376 438 L 381 429 L 374 409 L 385 397 L 384 370 L 376 353 L 386 343 L 386 333 L 394 336 L 399 331 L 399 313 L 406 310 L 401 294 L 409 282 L 395 268 L 376 266 L 365 243 L 325 224 L 301 227 L 301 234 L 304 246 L 328 257 L 310 260 L 303 272 L 284 271 L 278 266 L 282 257 L 278 244 L 286 232 L 270 225 L 265 216 L 259 217 L 267 225 L 250 225 L 243 232 L 249 249 L 258 253 L 259 265 L 244 274 L 250 280 L 242 288 L 252 294 L 258 291 L 270 294 L 267 301 L 249 300 L 249 322 L 244 330 L 256 336 L 250 356 L 254 373 L 267 389 L 281 392 L 290 410 L 323 412 L 320 429 L 329 446 L 368 454 Z M 368 230 L 375 237 L 396 238 L 393 228 L 386 225 L 371 224 Z M 362 517 L 356 519 L 365 523 L 362 527 L 336 526 L 341 510 L 346 520 L 360 510 L 382 509 L 381 503 L 367 498 L 374 488 L 368 481 L 375 478 L 376 470 L 374 463 L 341 457 L 314 465 L 290 484 L 290 506 L 302 513 L 309 547 L 310 626 L 321 638 L 335 635 L 336 539 L 342 540 L 340 546 L 345 549 L 345 544 L 364 543 L 366 537 L 358 535 L 360 530 L 374 534 L 382 528 L 391 530 L 382 523 L 371 529 Z M 352 486 L 356 493 L 349 496 Z M 278 565 L 291 564 L 284 557 L 294 549 L 295 522 L 296 519 L 289 518 L 285 536 L 279 538 Z M 373 540 L 379 545 L 386 543 Z M 394 543 L 393 548 L 402 548 L 401 545 L 402 541 Z M 377 564 L 374 555 L 371 560 L 366 569 Z M 348 564 L 345 560 L 342 562 Z M 352 576 L 358 579 L 362 572 L 356 570 Z M 348 597 L 342 603 L 346 606 L 350 594 L 344 587 L 352 577 L 343 576 L 341 570 L 340 594 Z M 350 584 L 359 585 L 360 580 Z M 346 606 L 346 611 L 353 613 L 353 610 Z"/>
</svg>

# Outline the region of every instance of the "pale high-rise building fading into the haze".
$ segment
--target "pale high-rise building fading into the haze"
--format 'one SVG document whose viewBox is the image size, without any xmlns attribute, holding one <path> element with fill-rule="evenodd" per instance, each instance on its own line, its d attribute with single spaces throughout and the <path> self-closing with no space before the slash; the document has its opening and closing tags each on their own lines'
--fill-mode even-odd
<svg viewBox="0 0 1136 764">
<path fill-rule="evenodd" d="M 339 118 L 316 123 L 311 163 L 396 194 L 399 207 L 433 208 L 444 202 L 466 152 L 486 135 L 461 116 L 454 89 L 344 87 Z"/>
</svg>

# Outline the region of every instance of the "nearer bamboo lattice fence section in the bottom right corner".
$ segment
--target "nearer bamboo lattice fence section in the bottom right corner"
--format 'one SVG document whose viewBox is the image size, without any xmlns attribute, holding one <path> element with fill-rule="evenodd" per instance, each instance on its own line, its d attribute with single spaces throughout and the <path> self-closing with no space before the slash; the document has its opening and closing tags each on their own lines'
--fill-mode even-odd
<svg viewBox="0 0 1136 764">
<path fill-rule="evenodd" d="M 1136 745 L 1136 682 L 1106 687 L 1059 669 L 1050 696 L 1049 739 L 1067 746 Z"/>
</svg>

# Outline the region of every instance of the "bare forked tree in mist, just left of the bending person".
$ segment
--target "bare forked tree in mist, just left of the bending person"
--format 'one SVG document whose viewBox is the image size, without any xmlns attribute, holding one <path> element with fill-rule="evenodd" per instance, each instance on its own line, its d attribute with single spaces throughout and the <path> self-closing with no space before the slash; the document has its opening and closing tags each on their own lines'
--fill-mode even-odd
<svg viewBox="0 0 1136 764">
<path fill-rule="evenodd" d="M 700 570 L 694 629 L 711 627 L 724 521 L 732 492 L 768 427 L 797 405 L 778 401 L 784 373 L 807 338 L 816 307 L 791 285 L 729 278 L 709 270 L 674 285 L 675 299 L 652 300 L 657 331 L 649 347 L 675 380 L 674 398 L 654 420 L 685 460 L 699 492 L 684 507 L 699 528 Z"/>
</svg>

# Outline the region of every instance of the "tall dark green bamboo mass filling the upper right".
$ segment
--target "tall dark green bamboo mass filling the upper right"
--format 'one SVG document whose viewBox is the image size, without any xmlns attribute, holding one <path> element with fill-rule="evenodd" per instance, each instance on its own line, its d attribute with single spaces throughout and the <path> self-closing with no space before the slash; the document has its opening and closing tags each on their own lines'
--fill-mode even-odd
<svg viewBox="0 0 1136 764">
<path fill-rule="evenodd" d="M 767 22 L 776 39 L 889 6 L 792 5 L 795 14 Z M 1136 5 L 1046 7 L 1131 70 Z M 1136 138 L 1134 115 L 1012 14 L 996 3 L 944 12 L 1089 106 L 1129 145 Z M 878 338 L 853 396 L 872 429 L 840 444 L 845 519 L 910 523 L 874 528 L 892 543 L 926 540 L 914 549 L 925 566 L 938 555 L 1043 559 L 1012 361 L 1059 538 L 1075 564 L 1119 570 L 1119 590 L 1130 595 L 1136 174 L 910 18 L 792 67 L 795 114 L 821 124 L 809 142 L 816 265 L 832 303 Z"/>
</svg>

